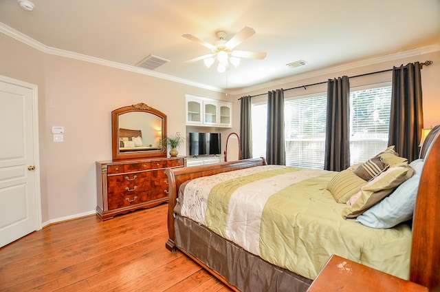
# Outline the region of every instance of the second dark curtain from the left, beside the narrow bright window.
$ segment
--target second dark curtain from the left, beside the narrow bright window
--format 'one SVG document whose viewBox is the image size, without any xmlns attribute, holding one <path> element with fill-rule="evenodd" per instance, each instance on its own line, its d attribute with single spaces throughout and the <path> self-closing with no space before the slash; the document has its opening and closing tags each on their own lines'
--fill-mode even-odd
<svg viewBox="0 0 440 292">
<path fill-rule="evenodd" d="M 284 92 L 267 93 L 266 161 L 269 165 L 285 165 Z"/>
</svg>

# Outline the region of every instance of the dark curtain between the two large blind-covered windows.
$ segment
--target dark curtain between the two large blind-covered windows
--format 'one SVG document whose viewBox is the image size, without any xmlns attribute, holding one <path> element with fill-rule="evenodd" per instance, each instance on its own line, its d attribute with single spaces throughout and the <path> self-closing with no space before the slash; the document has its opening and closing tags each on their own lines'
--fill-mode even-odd
<svg viewBox="0 0 440 292">
<path fill-rule="evenodd" d="M 327 83 L 327 124 L 324 169 L 342 171 L 349 167 L 349 94 L 348 76 Z"/>
</svg>

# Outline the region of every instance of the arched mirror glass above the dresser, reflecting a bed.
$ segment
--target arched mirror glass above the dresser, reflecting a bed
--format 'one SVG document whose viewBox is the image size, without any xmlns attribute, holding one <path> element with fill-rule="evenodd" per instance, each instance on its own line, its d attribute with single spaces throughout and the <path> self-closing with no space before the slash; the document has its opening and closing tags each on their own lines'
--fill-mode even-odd
<svg viewBox="0 0 440 292">
<path fill-rule="evenodd" d="M 160 149 L 162 118 L 146 112 L 128 112 L 118 119 L 120 152 Z"/>
</svg>

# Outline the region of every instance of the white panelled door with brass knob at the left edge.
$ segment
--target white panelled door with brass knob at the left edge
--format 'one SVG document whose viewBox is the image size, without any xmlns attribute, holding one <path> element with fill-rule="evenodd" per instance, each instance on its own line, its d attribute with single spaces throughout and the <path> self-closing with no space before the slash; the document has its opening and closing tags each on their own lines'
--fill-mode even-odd
<svg viewBox="0 0 440 292">
<path fill-rule="evenodd" d="M 0 247 L 41 229 L 36 86 L 0 76 Z"/>
</svg>

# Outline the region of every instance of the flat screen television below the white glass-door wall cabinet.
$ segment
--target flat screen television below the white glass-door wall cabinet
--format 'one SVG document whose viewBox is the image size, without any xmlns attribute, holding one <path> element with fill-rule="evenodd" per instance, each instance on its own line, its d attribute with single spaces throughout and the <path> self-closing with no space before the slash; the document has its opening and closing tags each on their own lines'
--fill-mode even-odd
<svg viewBox="0 0 440 292">
<path fill-rule="evenodd" d="M 221 153 L 221 133 L 190 133 L 190 156 Z"/>
</svg>

